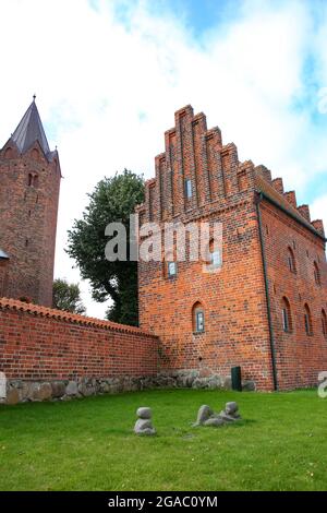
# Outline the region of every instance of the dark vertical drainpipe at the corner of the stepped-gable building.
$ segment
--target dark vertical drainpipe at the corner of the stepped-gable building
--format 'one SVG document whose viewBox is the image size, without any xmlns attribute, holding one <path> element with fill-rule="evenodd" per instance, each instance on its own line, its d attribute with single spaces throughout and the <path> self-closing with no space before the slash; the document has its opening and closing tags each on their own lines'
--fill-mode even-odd
<svg viewBox="0 0 327 513">
<path fill-rule="evenodd" d="M 268 324 L 269 324 L 269 339 L 270 339 L 270 353 L 271 353 L 271 366 L 272 366 L 272 381 L 274 390 L 278 390 L 278 377 L 277 377 L 277 357 L 275 348 L 275 337 L 274 337 L 274 327 L 272 327 L 272 318 L 271 318 L 271 308 L 270 308 L 270 296 L 269 296 L 269 282 L 268 282 L 268 272 L 267 272 L 267 261 L 265 254 L 265 240 L 263 234 L 263 219 L 261 211 L 261 202 L 263 201 L 263 194 L 259 193 L 256 199 L 256 213 L 258 219 L 258 229 L 259 229 L 259 240 L 262 249 L 262 259 L 264 267 L 264 278 L 265 278 L 265 290 L 266 290 L 266 301 L 267 301 L 267 312 L 268 312 Z"/>
</svg>

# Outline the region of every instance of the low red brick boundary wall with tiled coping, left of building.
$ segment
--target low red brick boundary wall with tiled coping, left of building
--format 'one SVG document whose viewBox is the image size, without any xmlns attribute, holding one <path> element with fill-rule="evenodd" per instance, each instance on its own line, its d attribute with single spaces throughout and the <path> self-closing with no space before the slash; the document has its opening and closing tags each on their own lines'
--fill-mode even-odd
<svg viewBox="0 0 327 513">
<path fill-rule="evenodd" d="M 135 327 L 0 299 L 0 371 L 9 380 L 153 375 L 157 344 Z"/>
</svg>

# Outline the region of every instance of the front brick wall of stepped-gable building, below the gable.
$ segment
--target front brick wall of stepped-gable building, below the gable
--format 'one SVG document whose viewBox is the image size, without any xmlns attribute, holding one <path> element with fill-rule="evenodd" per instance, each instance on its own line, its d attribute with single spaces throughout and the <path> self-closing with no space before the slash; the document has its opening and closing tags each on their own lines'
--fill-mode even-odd
<svg viewBox="0 0 327 513">
<path fill-rule="evenodd" d="M 165 262 L 140 263 L 141 326 L 162 343 L 165 369 L 197 369 L 201 377 L 230 375 L 241 366 L 243 378 L 270 390 L 269 331 L 254 205 L 221 211 L 222 267 L 203 273 L 204 262 L 178 262 L 167 277 Z M 202 219 L 204 220 L 204 219 Z M 207 218 L 209 222 L 209 218 Z M 194 333 L 192 309 L 201 302 L 205 333 Z"/>
</svg>

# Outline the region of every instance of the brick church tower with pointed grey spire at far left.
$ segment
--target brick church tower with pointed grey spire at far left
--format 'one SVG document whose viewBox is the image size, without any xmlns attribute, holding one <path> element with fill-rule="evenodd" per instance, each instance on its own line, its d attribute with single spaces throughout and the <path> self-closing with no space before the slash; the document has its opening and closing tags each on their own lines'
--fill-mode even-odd
<svg viewBox="0 0 327 513">
<path fill-rule="evenodd" d="M 1 296 L 52 305 L 60 179 L 34 97 L 0 151 Z"/>
</svg>

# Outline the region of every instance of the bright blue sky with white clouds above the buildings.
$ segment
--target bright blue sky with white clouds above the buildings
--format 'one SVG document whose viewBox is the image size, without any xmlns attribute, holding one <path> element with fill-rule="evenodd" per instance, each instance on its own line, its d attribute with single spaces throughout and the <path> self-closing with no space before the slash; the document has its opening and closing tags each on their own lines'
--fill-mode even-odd
<svg viewBox="0 0 327 513">
<path fill-rule="evenodd" d="M 282 176 L 327 226 L 326 0 L 0 0 L 0 144 L 37 105 L 62 172 L 56 276 L 80 281 L 66 230 L 104 176 L 154 176 L 186 104 L 241 160 Z M 90 300 L 89 315 L 104 305 Z"/>
</svg>

